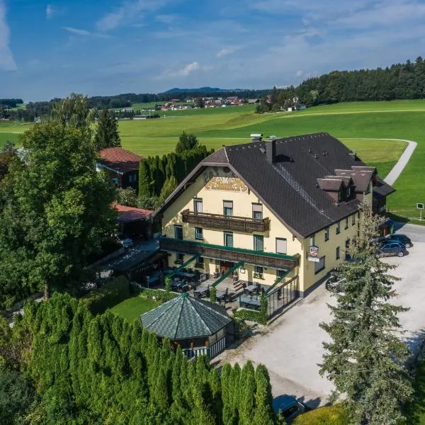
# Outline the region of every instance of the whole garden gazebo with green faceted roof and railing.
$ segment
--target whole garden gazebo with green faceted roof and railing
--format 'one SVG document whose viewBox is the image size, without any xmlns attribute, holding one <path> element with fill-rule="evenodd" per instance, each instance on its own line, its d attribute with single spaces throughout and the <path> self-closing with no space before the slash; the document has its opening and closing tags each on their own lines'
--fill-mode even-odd
<svg viewBox="0 0 425 425">
<path fill-rule="evenodd" d="M 181 346 L 188 358 L 217 356 L 232 341 L 232 319 L 220 305 L 182 293 L 141 317 L 142 325 Z"/>
</svg>

